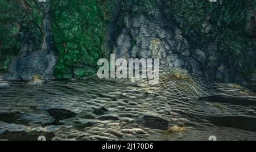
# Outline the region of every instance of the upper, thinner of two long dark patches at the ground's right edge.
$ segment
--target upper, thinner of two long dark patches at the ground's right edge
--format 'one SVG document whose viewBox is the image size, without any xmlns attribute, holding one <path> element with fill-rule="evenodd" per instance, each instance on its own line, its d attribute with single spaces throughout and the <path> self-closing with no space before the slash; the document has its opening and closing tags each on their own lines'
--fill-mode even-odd
<svg viewBox="0 0 256 152">
<path fill-rule="evenodd" d="M 256 105 L 256 100 L 239 98 L 236 96 L 224 96 L 224 95 L 216 95 L 216 96 L 207 96 L 200 98 L 200 100 L 205 100 L 208 102 L 218 102 L 218 103 L 232 103 L 238 105 Z"/>
</svg>

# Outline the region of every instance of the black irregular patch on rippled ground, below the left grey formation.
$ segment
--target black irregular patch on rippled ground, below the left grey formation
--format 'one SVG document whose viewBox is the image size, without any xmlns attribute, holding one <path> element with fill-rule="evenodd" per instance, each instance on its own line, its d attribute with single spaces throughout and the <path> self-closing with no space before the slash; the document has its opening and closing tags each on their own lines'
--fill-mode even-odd
<svg viewBox="0 0 256 152">
<path fill-rule="evenodd" d="M 55 119 L 53 125 L 61 125 L 61 123 L 59 123 L 60 120 L 76 117 L 77 115 L 76 113 L 65 109 L 48 109 L 47 112 Z"/>
</svg>

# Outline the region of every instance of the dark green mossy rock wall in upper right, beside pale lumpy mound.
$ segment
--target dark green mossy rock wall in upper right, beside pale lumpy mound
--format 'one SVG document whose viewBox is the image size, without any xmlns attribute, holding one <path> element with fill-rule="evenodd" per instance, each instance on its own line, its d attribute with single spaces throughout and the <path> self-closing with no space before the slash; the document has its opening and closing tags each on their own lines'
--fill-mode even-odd
<svg viewBox="0 0 256 152">
<path fill-rule="evenodd" d="M 222 62 L 255 81 L 255 5 L 254 0 L 170 1 L 166 15 L 176 20 L 192 49 L 217 43 Z"/>
</svg>

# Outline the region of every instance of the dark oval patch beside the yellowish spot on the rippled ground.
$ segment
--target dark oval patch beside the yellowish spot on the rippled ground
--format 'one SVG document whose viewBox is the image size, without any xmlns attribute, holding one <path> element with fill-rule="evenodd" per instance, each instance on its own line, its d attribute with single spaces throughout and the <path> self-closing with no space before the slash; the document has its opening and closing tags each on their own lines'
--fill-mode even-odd
<svg viewBox="0 0 256 152">
<path fill-rule="evenodd" d="M 169 123 L 160 117 L 155 116 L 144 116 L 144 126 L 151 129 L 167 130 L 169 128 Z"/>
</svg>

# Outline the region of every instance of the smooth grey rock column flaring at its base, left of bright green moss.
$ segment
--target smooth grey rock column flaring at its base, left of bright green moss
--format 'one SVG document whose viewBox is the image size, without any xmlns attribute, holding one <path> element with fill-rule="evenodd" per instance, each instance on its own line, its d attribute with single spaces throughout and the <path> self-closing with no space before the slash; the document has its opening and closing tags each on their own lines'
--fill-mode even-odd
<svg viewBox="0 0 256 152">
<path fill-rule="evenodd" d="M 54 79 L 54 69 L 57 62 L 57 54 L 53 46 L 51 32 L 51 18 L 49 16 L 49 2 L 36 2 L 36 6 L 44 14 L 42 20 L 42 40 L 38 50 L 33 49 L 38 37 L 32 33 L 26 33 L 18 56 L 14 58 L 9 67 L 9 73 L 3 75 L 6 80 L 29 80 L 34 75 L 42 75 L 46 79 Z"/>
</svg>

